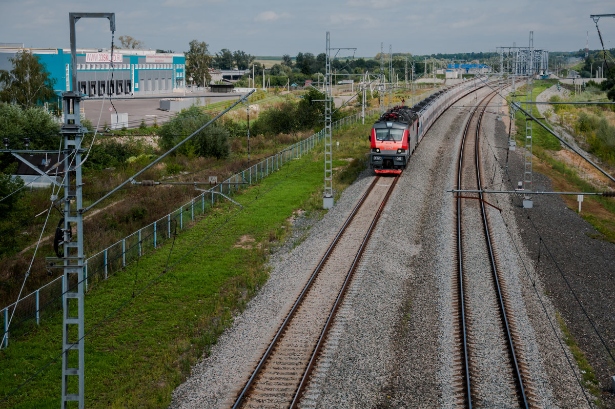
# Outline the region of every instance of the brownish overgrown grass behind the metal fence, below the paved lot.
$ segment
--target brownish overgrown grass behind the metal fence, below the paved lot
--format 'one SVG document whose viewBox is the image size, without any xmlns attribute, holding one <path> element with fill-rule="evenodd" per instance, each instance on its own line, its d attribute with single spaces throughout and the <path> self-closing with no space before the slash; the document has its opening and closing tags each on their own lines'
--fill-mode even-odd
<svg viewBox="0 0 615 409">
<path fill-rule="evenodd" d="M 258 98 L 258 99 L 257 99 Z M 284 98 L 295 98 L 294 95 Z M 272 93 L 258 93 L 253 105 L 269 106 L 276 103 L 280 97 Z M 220 111 L 228 101 L 216 103 L 213 107 L 205 107 L 208 112 Z M 255 110 L 254 110 L 255 111 Z M 227 114 L 221 121 L 232 118 L 234 122 L 245 124 L 245 107 L 237 108 Z M 255 117 L 252 116 L 251 118 Z M 84 170 L 84 205 L 92 204 L 102 196 L 103 193 L 113 189 L 124 180 L 127 180 L 137 170 L 140 170 L 151 162 L 153 157 L 160 154 L 156 146 L 149 145 L 149 142 L 157 141 L 156 127 L 138 127 L 135 129 L 117 130 L 105 135 L 97 135 L 97 141 L 106 143 L 119 142 L 121 145 L 129 146 L 130 151 L 137 155 L 134 161 L 125 162 L 115 168 L 95 170 L 86 168 Z M 252 159 L 269 156 L 277 151 L 284 149 L 288 145 L 311 135 L 311 131 L 295 133 L 292 135 L 276 135 L 265 138 L 263 135 L 252 135 L 250 138 L 250 149 Z M 89 143 L 89 142 L 88 142 Z M 109 145 L 106 145 L 109 146 Z M 217 176 L 220 180 L 246 169 L 250 166 L 247 161 L 247 142 L 245 137 L 231 138 L 232 153 L 225 161 L 216 161 L 213 158 L 186 157 L 182 155 L 170 156 L 153 169 L 148 170 L 141 176 L 141 179 L 162 180 L 169 177 L 181 177 L 174 181 L 202 181 L 207 176 Z M 110 151 L 109 154 L 116 154 Z M 92 161 L 93 156 L 90 156 Z M 196 173 L 194 173 L 196 172 Z M 31 213 L 38 214 L 49 208 L 49 197 L 51 188 L 35 189 L 26 194 L 26 207 Z M 194 186 L 173 186 L 173 188 L 156 189 L 143 188 L 138 185 L 127 185 L 118 191 L 108 201 L 103 202 L 92 212 L 84 215 L 84 231 L 88 234 L 84 237 L 84 249 L 86 255 L 92 255 L 100 249 L 113 244 L 122 237 L 137 231 L 139 228 L 152 223 L 167 213 L 176 210 L 180 205 L 190 201 L 197 196 Z M 26 282 L 24 293 L 28 294 L 36 288 L 55 278 L 49 275 L 44 268 L 44 257 L 54 255 L 52 246 L 52 232 L 57 226 L 61 215 L 59 212 L 51 212 L 47 223 L 46 233 L 43 236 L 41 247 L 38 249 L 37 258 L 32 266 L 32 274 Z M 34 218 L 30 225 L 22 226 L 17 229 L 17 234 L 22 251 L 9 254 L 0 258 L 0 300 L 2 306 L 8 305 L 17 298 L 17 292 L 21 285 L 23 273 L 28 269 L 28 264 L 34 253 L 34 244 L 38 240 L 45 215 Z M 15 279 L 17 277 L 17 279 Z"/>
</svg>

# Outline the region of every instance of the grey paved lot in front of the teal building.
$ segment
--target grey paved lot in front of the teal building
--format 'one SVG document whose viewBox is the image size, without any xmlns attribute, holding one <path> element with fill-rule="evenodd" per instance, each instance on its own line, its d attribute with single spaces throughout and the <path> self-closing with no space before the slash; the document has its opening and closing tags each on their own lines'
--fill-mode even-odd
<svg viewBox="0 0 615 409">
<path fill-rule="evenodd" d="M 201 97 L 205 98 L 205 106 L 209 103 L 215 103 L 218 101 L 236 100 L 241 97 L 241 93 L 232 94 L 220 94 L 220 93 L 187 93 L 185 98 Z M 117 113 L 128 114 L 128 126 L 129 128 L 136 128 L 141 124 L 141 120 L 146 124 L 151 125 L 156 119 L 157 124 L 161 124 L 169 120 L 175 115 L 172 111 L 162 111 L 160 109 L 160 100 L 162 98 L 184 98 L 181 93 L 169 93 L 156 95 L 155 98 L 132 98 L 127 100 L 114 99 L 113 105 L 117 109 Z M 105 124 L 111 126 L 111 115 L 115 115 L 116 111 L 111 107 L 111 102 L 108 99 L 105 100 L 84 100 L 81 102 L 84 106 L 85 117 L 92 121 L 92 124 L 96 126 L 98 124 L 98 118 L 100 117 L 100 127 L 104 127 Z M 101 111 L 102 107 L 102 111 Z M 109 111 L 111 108 L 111 111 Z"/>
</svg>

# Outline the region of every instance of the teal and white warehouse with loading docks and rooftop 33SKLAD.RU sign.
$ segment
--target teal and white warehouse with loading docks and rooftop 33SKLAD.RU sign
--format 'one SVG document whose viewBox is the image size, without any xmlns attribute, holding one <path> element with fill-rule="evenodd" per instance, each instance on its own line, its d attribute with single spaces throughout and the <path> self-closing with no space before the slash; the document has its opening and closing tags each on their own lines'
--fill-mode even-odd
<svg viewBox="0 0 615 409">
<path fill-rule="evenodd" d="M 55 79 L 58 96 L 71 89 L 70 49 L 25 48 L 23 44 L 0 43 L 0 69 L 10 71 L 9 58 L 19 52 L 37 55 Z M 155 50 L 77 49 L 77 86 L 89 98 L 125 97 L 183 92 L 186 57 L 160 54 Z"/>
</svg>

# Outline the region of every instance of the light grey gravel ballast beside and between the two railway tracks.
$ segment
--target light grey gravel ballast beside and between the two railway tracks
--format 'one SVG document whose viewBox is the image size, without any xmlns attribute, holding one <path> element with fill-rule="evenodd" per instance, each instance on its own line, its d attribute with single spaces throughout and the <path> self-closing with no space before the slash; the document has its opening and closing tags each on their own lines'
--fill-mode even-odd
<svg viewBox="0 0 615 409">
<path fill-rule="evenodd" d="M 462 104 L 474 102 L 473 93 Z M 300 407 L 456 407 L 451 384 L 454 201 L 446 189 L 453 188 L 458 139 L 468 109 L 446 111 L 413 154 L 355 272 Z M 491 144 L 482 146 L 485 173 L 495 169 L 499 175 L 493 156 L 502 161 L 503 153 L 505 159 L 506 149 L 501 147 L 506 146 L 507 129 L 493 114 L 484 121 L 485 138 Z M 512 158 L 511 168 L 517 166 L 516 156 Z M 191 377 L 173 392 L 170 408 L 220 407 L 234 389 L 244 385 L 315 264 L 372 180 L 371 171 L 363 172 L 322 220 L 298 218 L 293 238 L 271 255 L 268 282 L 235 317 L 210 356 L 194 365 Z M 587 407 L 554 335 L 561 337 L 557 320 L 554 333 L 536 295 L 554 319 L 541 287 L 541 268 L 537 275 L 536 264 L 531 256 L 528 259 L 531 252 L 523 244 L 528 240 L 523 237 L 527 228 L 514 202 L 502 196 L 498 200 L 504 218 L 490 211 L 491 221 L 539 405 Z M 517 231 L 517 224 L 523 231 Z M 543 259 L 544 255 L 541 265 Z M 562 311 L 557 301 L 554 304 Z M 491 378 L 497 379 L 497 370 L 493 368 Z M 497 394 L 496 390 L 485 389 L 483 394 Z M 498 402 L 494 399 L 491 407 L 498 407 Z"/>
</svg>

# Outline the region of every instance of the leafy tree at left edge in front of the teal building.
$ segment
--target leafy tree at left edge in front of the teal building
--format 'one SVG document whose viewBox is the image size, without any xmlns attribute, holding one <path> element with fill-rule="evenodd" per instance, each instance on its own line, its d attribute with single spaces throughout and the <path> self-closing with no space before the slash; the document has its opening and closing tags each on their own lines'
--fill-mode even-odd
<svg viewBox="0 0 615 409">
<path fill-rule="evenodd" d="M 0 69 L 0 101 L 30 108 L 55 100 L 55 79 L 38 55 L 20 52 L 9 61 L 13 69 Z"/>
</svg>

